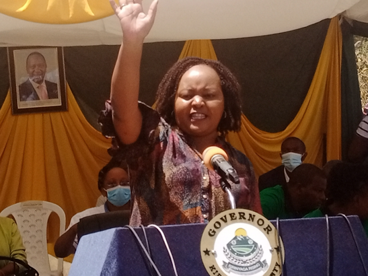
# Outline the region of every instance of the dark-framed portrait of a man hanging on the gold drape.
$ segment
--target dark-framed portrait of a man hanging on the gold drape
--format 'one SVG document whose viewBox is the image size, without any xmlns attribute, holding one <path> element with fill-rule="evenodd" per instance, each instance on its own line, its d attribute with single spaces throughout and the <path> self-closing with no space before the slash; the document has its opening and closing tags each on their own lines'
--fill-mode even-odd
<svg viewBox="0 0 368 276">
<path fill-rule="evenodd" d="M 13 114 L 67 110 L 61 47 L 9 47 L 8 64 Z"/>
</svg>

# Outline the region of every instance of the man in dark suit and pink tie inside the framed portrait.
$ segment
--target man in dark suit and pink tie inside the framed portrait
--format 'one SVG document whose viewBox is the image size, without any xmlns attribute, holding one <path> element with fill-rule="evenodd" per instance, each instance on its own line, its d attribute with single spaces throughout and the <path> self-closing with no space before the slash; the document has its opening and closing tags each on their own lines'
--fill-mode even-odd
<svg viewBox="0 0 368 276">
<path fill-rule="evenodd" d="M 57 84 L 45 80 L 46 59 L 39 52 L 27 56 L 28 80 L 19 85 L 20 101 L 57 99 Z"/>
</svg>

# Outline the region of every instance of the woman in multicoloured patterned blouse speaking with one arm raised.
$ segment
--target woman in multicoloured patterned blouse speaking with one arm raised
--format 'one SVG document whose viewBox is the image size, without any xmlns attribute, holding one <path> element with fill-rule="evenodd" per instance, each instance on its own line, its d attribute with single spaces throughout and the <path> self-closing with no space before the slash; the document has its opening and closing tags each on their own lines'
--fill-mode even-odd
<svg viewBox="0 0 368 276">
<path fill-rule="evenodd" d="M 129 161 L 130 224 L 207 222 L 230 209 L 220 176 L 202 153 L 209 146 L 227 152 L 240 184 L 230 183 L 238 208 L 261 212 L 257 180 L 248 158 L 225 141 L 239 131 L 240 85 L 222 63 L 186 57 L 159 84 L 156 110 L 138 103 L 144 38 L 153 26 L 158 1 L 145 14 L 141 1 L 110 0 L 123 31 L 111 80 L 111 102 L 100 117 L 105 136 L 116 138 L 110 153 Z M 231 181 L 230 181 L 231 182 Z"/>
</svg>

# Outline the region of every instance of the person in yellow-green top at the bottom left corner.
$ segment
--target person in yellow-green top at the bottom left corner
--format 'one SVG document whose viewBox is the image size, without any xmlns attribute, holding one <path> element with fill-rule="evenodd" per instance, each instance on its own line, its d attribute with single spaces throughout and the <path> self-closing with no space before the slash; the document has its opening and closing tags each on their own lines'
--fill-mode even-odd
<svg viewBox="0 0 368 276">
<path fill-rule="evenodd" d="M 5 217 L 0 217 L 0 256 L 27 262 L 26 248 L 17 224 L 12 219 Z M 0 260 L 0 276 L 18 275 L 19 270 L 18 264 Z"/>
</svg>

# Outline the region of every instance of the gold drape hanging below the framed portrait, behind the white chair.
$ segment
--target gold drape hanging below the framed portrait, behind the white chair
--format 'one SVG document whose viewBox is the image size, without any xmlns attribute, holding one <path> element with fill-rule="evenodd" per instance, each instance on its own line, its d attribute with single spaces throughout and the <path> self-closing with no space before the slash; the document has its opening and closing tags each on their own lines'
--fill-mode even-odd
<svg viewBox="0 0 368 276">
<path fill-rule="evenodd" d="M 0 210 L 47 200 L 63 208 L 68 225 L 96 205 L 111 141 L 89 125 L 68 85 L 67 98 L 65 112 L 12 115 L 7 94 L 0 109 Z"/>
</svg>

